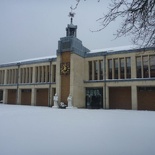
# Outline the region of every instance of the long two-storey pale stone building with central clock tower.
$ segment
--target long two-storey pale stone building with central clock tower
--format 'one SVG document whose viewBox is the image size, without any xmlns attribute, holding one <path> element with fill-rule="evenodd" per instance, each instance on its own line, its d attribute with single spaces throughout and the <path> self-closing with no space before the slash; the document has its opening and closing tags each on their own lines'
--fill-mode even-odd
<svg viewBox="0 0 155 155">
<path fill-rule="evenodd" d="M 66 28 L 56 56 L 0 65 L 0 100 L 53 106 L 53 96 L 78 108 L 155 110 L 155 47 L 90 51 Z"/>
</svg>

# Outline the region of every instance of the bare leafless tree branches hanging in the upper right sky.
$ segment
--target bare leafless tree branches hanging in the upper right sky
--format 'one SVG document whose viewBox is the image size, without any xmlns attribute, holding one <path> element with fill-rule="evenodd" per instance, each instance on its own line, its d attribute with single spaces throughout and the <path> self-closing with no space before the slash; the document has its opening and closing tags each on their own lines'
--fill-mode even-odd
<svg viewBox="0 0 155 155">
<path fill-rule="evenodd" d="M 71 9 L 75 10 L 80 1 L 76 0 L 75 7 Z M 116 38 L 132 35 L 134 44 L 155 46 L 155 0 L 112 0 L 108 12 L 97 19 L 102 24 L 97 31 L 105 29 L 118 18 L 122 18 L 122 23 Z"/>
</svg>

